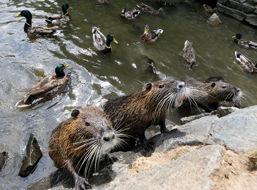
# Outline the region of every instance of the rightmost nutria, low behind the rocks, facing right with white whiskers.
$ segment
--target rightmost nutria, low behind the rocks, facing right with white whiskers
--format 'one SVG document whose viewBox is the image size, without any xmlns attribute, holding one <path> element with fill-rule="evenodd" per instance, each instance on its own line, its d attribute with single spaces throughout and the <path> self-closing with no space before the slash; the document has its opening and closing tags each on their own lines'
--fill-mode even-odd
<svg viewBox="0 0 257 190">
<path fill-rule="evenodd" d="M 205 112 L 217 110 L 221 106 L 221 101 L 233 102 L 238 108 L 242 108 L 240 98 L 242 96 L 240 88 L 227 83 L 223 77 L 211 77 L 203 83 L 193 78 L 183 78 L 187 87 L 195 87 L 198 90 L 194 94 L 194 100 L 198 107 L 201 107 Z M 202 93 L 199 93 L 201 91 Z M 191 105 L 188 100 L 184 102 L 185 106 Z"/>
</svg>

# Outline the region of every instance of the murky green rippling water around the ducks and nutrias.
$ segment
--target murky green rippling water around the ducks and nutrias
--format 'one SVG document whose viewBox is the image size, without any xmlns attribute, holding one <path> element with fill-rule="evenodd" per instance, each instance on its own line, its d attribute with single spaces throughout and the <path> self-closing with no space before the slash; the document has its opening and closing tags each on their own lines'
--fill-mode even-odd
<svg viewBox="0 0 257 190">
<path fill-rule="evenodd" d="M 231 36 L 241 32 L 244 39 L 257 41 L 257 29 L 221 13 L 218 13 L 221 24 L 209 24 L 206 21 L 211 14 L 202 11 L 203 4 L 199 2 L 170 1 L 172 4 L 165 6 L 154 0 L 145 1 L 157 10 L 162 6 L 166 15 L 141 12 L 136 20 L 130 21 L 120 18 L 122 6 L 129 11 L 141 0 L 109 2 L 109 5 L 101 5 L 94 0 L 67 1 L 73 7 L 68 10 L 72 19 L 64 24 L 66 26 L 60 26 L 62 34 L 37 38 L 24 33 L 25 18 L 13 16 L 27 9 L 33 15 L 34 25 L 45 26 L 42 18 L 46 13 L 61 11 L 65 2 L 1 0 L 0 146 L 4 145 L 15 160 L 0 173 L 0 189 L 21 189 L 56 170 L 47 154 L 48 141 L 52 130 L 70 117 L 73 108 L 101 104 L 104 99 L 130 94 L 140 89 L 140 82 L 152 82 L 159 77 L 177 80 L 193 76 L 205 80 L 224 76 L 229 83 L 256 94 L 257 75 L 242 71 L 235 62 L 234 52 L 241 52 L 255 65 L 257 51 L 235 44 Z M 150 25 L 150 30 L 157 27 L 164 30 L 155 43 L 144 43 L 139 38 L 146 24 Z M 119 44 L 112 43 L 112 53 L 95 50 L 92 26 L 100 27 L 106 36 L 114 35 Z M 188 69 L 179 55 L 187 39 L 193 41 L 197 55 L 193 70 Z M 149 65 L 151 60 L 157 74 Z M 60 96 L 27 108 L 15 107 L 25 95 L 17 89 L 31 87 L 40 77 L 53 74 L 56 65 L 62 62 L 70 64 L 65 72 L 71 80 Z M 252 98 L 249 105 L 257 103 L 257 98 Z M 193 110 L 193 113 L 198 111 Z M 179 109 L 178 113 L 170 113 L 168 119 L 179 124 L 182 116 L 190 114 L 190 108 Z M 21 178 L 18 172 L 30 133 L 38 139 L 45 157 L 29 177 Z"/>
</svg>

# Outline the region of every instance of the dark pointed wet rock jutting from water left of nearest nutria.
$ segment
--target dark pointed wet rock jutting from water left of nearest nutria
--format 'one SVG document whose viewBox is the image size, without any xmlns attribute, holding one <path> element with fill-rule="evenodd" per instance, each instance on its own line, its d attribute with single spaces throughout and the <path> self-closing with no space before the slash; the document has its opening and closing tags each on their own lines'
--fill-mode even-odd
<svg viewBox="0 0 257 190">
<path fill-rule="evenodd" d="M 40 158 L 43 156 L 37 143 L 37 139 L 33 137 L 33 134 L 30 135 L 26 152 L 26 158 L 23 161 L 22 167 L 19 171 L 19 176 L 23 178 L 27 177 L 32 172 Z"/>
</svg>

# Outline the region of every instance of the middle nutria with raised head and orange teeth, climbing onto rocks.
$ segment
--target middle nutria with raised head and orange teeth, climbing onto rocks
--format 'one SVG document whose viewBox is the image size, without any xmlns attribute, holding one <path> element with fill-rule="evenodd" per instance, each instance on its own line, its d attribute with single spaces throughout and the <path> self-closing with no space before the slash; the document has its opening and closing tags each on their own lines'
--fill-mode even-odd
<svg viewBox="0 0 257 190">
<path fill-rule="evenodd" d="M 130 95 L 111 98 L 103 105 L 103 110 L 114 126 L 118 125 L 131 137 L 138 136 L 148 151 L 153 143 L 146 139 L 145 130 L 159 125 L 161 133 L 168 132 L 165 125 L 168 110 L 179 107 L 188 93 L 184 82 L 160 80 L 147 83 Z M 129 144 L 132 146 L 132 141 Z"/>
</svg>

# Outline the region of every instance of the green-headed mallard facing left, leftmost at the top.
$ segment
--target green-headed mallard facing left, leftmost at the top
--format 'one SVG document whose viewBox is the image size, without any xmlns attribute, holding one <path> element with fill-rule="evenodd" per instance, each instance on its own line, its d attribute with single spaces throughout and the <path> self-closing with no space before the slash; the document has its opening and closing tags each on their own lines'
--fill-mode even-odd
<svg viewBox="0 0 257 190">
<path fill-rule="evenodd" d="M 27 20 L 24 25 L 24 31 L 34 36 L 55 36 L 60 31 L 53 30 L 54 28 L 58 28 L 58 26 L 53 26 L 51 28 L 47 28 L 45 26 L 34 26 L 31 24 L 32 15 L 28 10 L 23 10 L 21 13 L 14 17 L 25 17 Z"/>
</svg>

